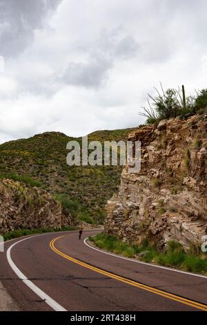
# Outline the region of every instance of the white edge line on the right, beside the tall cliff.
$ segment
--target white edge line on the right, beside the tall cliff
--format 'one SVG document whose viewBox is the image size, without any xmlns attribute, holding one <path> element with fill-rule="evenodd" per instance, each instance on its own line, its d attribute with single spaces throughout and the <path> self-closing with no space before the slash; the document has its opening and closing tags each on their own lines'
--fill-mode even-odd
<svg viewBox="0 0 207 325">
<path fill-rule="evenodd" d="M 95 236 L 95 235 L 93 235 L 93 236 Z M 108 254 L 110 256 L 117 257 L 119 259 L 126 259 L 126 261 L 131 261 L 131 262 L 135 262 L 135 263 L 139 263 L 139 264 L 144 264 L 146 266 L 153 266 L 154 268 L 162 268 L 164 270 L 168 270 L 168 271 L 172 271 L 172 272 L 183 273 L 184 275 L 192 275 L 193 277 L 203 277 L 204 279 L 207 279 L 207 277 L 205 275 L 197 275 L 197 274 L 191 273 L 191 272 L 175 270 L 174 268 L 167 268 L 166 266 L 157 266 L 155 264 L 146 263 L 146 262 L 142 262 L 142 261 L 137 261 L 135 259 L 129 259 L 128 257 L 122 257 L 122 256 L 119 256 L 117 254 L 113 254 L 113 253 L 110 253 L 110 252 L 105 252 L 105 250 L 99 250 L 99 248 L 92 247 L 91 245 L 89 245 L 87 243 L 87 241 L 88 241 L 88 237 L 86 239 L 84 239 L 85 245 L 87 245 L 89 248 L 92 248 L 92 250 L 97 250 L 98 252 L 101 252 L 103 254 Z"/>
</svg>

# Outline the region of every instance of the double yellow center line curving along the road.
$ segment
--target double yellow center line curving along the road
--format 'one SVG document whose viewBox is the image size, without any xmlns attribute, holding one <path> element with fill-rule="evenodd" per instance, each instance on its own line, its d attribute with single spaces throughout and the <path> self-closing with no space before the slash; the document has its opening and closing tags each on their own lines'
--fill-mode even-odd
<svg viewBox="0 0 207 325">
<path fill-rule="evenodd" d="M 159 290 L 159 289 L 153 288 L 151 286 L 146 286 L 145 284 L 141 284 L 141 283 L 139 283 L 137 281 L 133 281 L 133 280 L 127 279 L 125 277 L 120 277 L 119 275 L 114 275 L 111 272 L 108 272 L 108 271 L 105 271 L 105 270 L 101 270 L 101 268 L 97 268 L 95 266 L 90 266 L 88 263 L 84 263 L 82 261 L 79 261 L 78 259 L 74 259 L 73 257 L 70 257 L 70 256 L 64 254 L 63 252 L 61 252 L 60 250 L 58 250 L 55 247 L 55 242 L 58 241 L 59 239 L 63 238 L 63 237 L 64 236 L 59 236 L 59 237 L 53 239 L 52 241 L 50 241 L 50 248 L 54 252 L 56 252 L 57 254 L 59 254 L 61 257 L 64 257 L 65 259 L 68 259 L 68 261 L 71 261 L 73 263 L 76 263 L 79 266 L 83 266 L 83 268 L 88 268 L 89 270 L 92 270 L 92 271 L 95 271 L 97 273 L 100 273 L 101 275 L 105 275 L 106 277 L 110 277 L 111 279 L 115 279 L 117 281 L 121 281 L 124 284 L 128 284 L 130 286 L 134 286 L 136 288 L 139 288 L 139 289 L 142 289 L 142 290 L 146 290 L 146 291 L 148 291 L 150 293 L 154 293 L 155 295 L 159 295 L 161 297 L 165 297 L 165 298 L 168 298 L 168 299 L 177 301 L 177 302 L 179 302 L 181 304 L 185 304 L 185 305 L 188 305 L 188 306 L 193 307 L 193 308 L 197 308 L 197 309 L 200 309 L 200 310 L 207 311 L 207 305 L 205 305 L 205 304 L 200 304 L 197 301 L 193 301 L 193 300 L 190 300 L 190 299 L 186 299 L 184 297 L 180 297 L 180 296 L 177 296 L 177 295 L 173 295 L 172 293 L 166 293 L 166 291 Z"/>
</svg>

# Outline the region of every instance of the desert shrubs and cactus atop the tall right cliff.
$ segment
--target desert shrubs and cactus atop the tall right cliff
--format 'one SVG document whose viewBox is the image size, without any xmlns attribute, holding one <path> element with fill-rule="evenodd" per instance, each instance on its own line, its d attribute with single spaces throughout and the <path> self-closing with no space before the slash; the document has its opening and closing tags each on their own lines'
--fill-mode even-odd
<svg viewBox="0 0 207 325">
<path fill-rule="evenodd" d="M 155 88 L 157 95 L 148 94 L 148 106 L 142 107 L 144 111 L 139 112 L 139 115 L 146 118 L 147 124 L 169 118 L 185 119 L 195 113 L 207 113 L 207 89 L 197 91 L 194 96 L 186 96 L 184 86 L 181 89 L 164 90 L 160 83 L 160 88 L 160 91 Z"/>
</svg>

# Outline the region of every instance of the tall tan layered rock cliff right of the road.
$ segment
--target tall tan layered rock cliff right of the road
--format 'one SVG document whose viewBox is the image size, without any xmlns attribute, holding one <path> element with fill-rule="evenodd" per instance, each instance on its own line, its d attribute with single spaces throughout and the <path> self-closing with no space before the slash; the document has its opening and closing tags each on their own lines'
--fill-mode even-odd
<svg viewBox="0 0 207 325">
<path fill-rule="evenodd" d="M 119 193 L 106 205 L 105 231 L 132 243 L 150 237 L 199 245 L 207 234 L 207 118 L 171 119 L 134 131 L 141 171 L 125 167 Z"/>
</svg>

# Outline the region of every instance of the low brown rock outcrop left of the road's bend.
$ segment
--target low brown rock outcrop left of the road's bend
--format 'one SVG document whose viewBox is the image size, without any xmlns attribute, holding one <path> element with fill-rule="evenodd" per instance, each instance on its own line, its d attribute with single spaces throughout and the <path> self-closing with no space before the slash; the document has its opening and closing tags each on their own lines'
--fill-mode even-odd
<svg viewBox="0 0 207 325">
<path fill-rule="evenodd" d="M 61 228 L 70 225 L 60 203 L 37 187 L 13 180 L 0 182 L 0 233 L 18 229 Z"/>
</svg>

